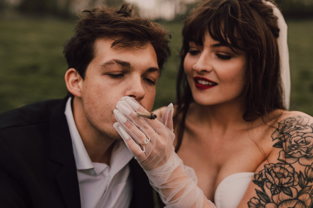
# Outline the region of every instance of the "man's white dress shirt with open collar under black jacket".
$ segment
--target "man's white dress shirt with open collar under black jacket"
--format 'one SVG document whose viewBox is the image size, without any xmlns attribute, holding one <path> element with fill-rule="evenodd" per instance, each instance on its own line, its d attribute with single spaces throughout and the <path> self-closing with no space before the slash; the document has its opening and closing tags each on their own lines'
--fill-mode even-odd
<svg viewBox="0 0 313 208">
<path fill-rule="evenodd" d="M 132 194 L 128 162 L 133 155 L 125 143 L 115 141 L 110 160 L 111 166 L 92 162 L 74 122 L 71 98 L 66 103 L 64 114 L 72 138 L 81 207 L 129 207 Z"/>
</svg>

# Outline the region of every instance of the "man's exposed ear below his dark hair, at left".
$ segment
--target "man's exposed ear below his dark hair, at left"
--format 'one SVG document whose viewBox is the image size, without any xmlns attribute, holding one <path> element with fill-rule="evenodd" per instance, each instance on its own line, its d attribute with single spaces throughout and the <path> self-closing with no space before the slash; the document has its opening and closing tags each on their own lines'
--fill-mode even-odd
<svg viewBox="0 0 313 208">
<path fill-rule="evenodd" d="M 65 76 L 66 87 L 70 93 L 76 97 L 81 97 L 83 78 L 74 68 L 70 68 L 66 71 Z"/>
</svg>

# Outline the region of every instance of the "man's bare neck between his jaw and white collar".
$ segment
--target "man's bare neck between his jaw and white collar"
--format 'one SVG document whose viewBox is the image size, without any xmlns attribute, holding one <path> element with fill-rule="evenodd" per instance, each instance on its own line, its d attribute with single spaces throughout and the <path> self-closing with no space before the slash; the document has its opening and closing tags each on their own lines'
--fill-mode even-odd
<svg viewBox="0 0 313 208">
<path fill-rule="evenodd" d="M 92 162 L 110 165 L 115 139 L 97 131 L 86 119 L 81 100 L 74 98 L 72 112 L 77 130 Z"/>
</svg>

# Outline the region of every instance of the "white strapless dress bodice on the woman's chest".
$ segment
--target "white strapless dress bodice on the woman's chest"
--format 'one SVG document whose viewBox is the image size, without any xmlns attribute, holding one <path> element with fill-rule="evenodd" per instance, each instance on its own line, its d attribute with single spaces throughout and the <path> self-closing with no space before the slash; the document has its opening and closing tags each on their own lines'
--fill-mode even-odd
<svg viewBox="0 0 313 208">
<path fill-rule="evenodd" d="M 215 191 L 215 206 L 217 208 L 236 208 L 253 176 L 253 172 L 240 172 L 224 178 Z"/>
</svg>

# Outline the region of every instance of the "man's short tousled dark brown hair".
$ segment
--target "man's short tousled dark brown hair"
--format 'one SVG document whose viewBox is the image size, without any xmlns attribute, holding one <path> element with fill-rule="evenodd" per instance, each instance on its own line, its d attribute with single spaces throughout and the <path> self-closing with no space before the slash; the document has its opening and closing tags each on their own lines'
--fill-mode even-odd
<svg viewBox="0 0 313 208">
<path fill-rule="evenodd" d="M 170 55 L 169 33 L 159 24 L 139 17 L 128 4 L 117 10 L 104 7 L 84 10 L 74 36 L 66 42 L 63 51 L 68 67 L 76 69 L 83 79 L 95 57 L 94 44 L 99 38 L 112 38 L 115 41 L 111 47 L 115 48 L 144 48 L 151 43 L 160 70 Z"/>
</svg>

